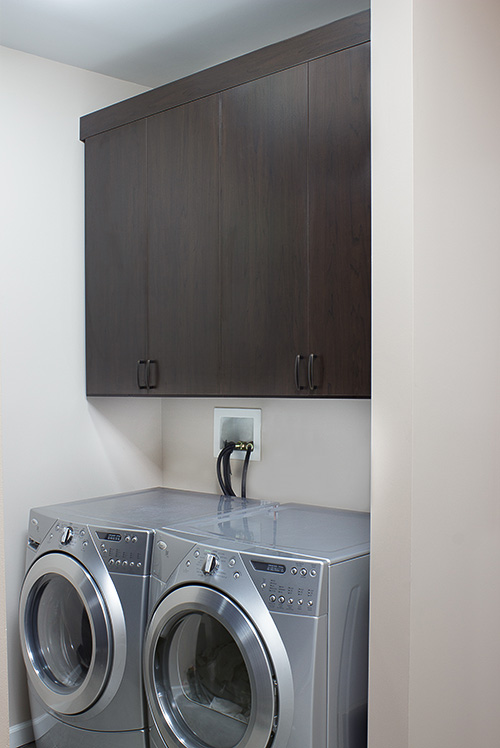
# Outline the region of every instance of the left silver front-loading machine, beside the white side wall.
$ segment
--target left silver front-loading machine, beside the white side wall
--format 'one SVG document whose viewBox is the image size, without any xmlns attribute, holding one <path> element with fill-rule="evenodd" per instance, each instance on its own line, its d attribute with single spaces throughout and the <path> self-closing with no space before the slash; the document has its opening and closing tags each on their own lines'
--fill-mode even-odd
<svg viewBox="0 0 500 748">
<path fill-rule="evenodd" d="M 155 488 L 30 514 L 21 648 L 38 748 L 145 748 L 154 528 L 253 503 Z"/>
</svg>

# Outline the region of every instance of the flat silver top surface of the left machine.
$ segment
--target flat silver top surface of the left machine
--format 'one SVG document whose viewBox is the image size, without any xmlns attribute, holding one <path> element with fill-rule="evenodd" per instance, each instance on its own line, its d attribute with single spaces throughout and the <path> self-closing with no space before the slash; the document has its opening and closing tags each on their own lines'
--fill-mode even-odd
<svg viewBox="0 0 500 748">
<path fill-rule="evenodd" d="M 156 529 L 175 526 L 179 522 L 214 516 L 227 510 L 227 499 L 217 494 L 181 491 L 171 488 L 149 488 L 131 493 L 99 496 L 93 499 L 70 501 L 37 507 L 36 511 L 52 519 L 70 522 Z M 231 500 L 237 511 L 260 507 L 263 502 L 251 499 Z"/>
</svg>

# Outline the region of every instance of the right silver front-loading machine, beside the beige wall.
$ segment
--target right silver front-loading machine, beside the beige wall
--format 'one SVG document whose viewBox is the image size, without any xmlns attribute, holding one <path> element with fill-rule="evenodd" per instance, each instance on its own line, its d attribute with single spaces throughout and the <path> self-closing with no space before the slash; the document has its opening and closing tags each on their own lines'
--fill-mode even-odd
<svg viewBox="0 0 500 748">
<path fill-rule="evenodd" d="M 153 748 L 366 748 L 369 515 L 220 512 L 155 537 Z"/>
</svg>

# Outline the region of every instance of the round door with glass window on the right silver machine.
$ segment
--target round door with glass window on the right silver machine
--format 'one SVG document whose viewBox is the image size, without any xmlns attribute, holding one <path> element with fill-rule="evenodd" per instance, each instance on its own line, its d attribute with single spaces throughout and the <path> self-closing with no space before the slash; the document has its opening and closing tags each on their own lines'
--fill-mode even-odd
<svg viewBox="0 0 500 748">
<path fill-rule="evenodd" d="M 179 587 L 146 634 L 149 706 L 168 746 L 265 748 L 277 723 L 276 679 L 250 619 L 211 587 Z"/>
</svg>

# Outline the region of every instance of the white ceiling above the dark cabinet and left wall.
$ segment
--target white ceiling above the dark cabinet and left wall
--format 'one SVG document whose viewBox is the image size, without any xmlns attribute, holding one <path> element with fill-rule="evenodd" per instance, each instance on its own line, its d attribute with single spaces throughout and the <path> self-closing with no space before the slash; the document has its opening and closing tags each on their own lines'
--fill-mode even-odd
<svg viewBox="0 0 500 748">
<path fill-rule="evenodd" d="M 0 44 L 158 86 L 369 7 L 370 0 L 0 0 Z"/>
</svg>

